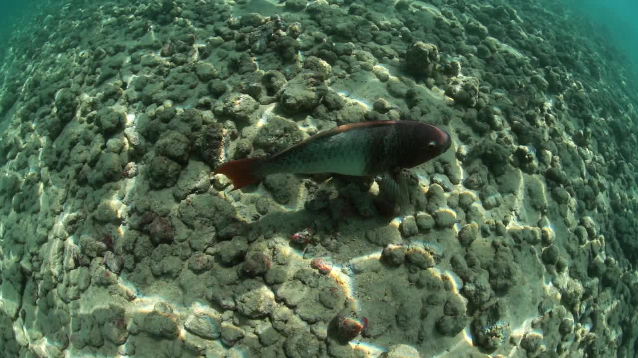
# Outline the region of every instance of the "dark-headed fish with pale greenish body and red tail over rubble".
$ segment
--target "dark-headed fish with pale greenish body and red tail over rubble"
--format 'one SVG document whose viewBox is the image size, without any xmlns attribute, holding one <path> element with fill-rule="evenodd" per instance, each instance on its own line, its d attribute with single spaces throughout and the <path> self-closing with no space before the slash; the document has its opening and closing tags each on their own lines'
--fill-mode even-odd
<svg viewBox="0 0 638 358">
<path fill-rule="evenodd" d="M 275 173 L 338 173 L 378 176 L 413 168 L 442 154 L 452 140 L 434 125 L 411 120 L 379 120 L 340 125 L 268 157 L 225 162 L 233 190 Z"/>
</svg>

